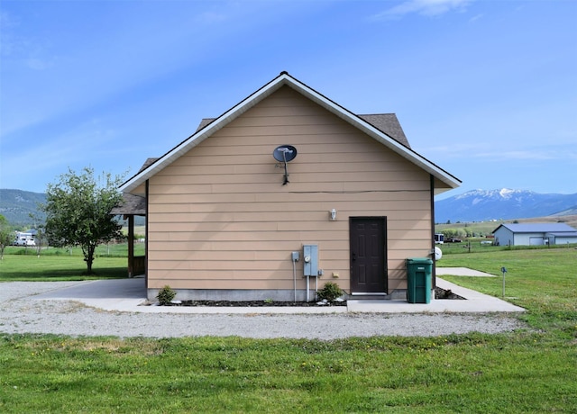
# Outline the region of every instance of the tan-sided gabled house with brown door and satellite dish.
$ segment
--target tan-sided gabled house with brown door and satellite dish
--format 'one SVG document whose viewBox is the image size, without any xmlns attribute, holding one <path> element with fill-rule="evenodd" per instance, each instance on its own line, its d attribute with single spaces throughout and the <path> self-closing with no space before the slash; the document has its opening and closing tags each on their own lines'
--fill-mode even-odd
<svg viewBox="0 0 577 414">
<path fill-rule="evenodd" d="M 168 284 L 180 300 L 290 302 L 326 281 L 405 297 L 406 259 L 434 252 L 434 196 L 460 184 L 395 114 L 354 114 L 283 72 L 121 190 L 145 202 L 150 299 Z"/>
</svg>

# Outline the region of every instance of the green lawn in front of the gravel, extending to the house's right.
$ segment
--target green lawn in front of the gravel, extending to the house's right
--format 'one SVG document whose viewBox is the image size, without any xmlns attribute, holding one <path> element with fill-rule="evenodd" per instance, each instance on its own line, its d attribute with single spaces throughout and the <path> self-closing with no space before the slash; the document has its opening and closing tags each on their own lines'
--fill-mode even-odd
<svg viewBox="0 0 577 414">
<path fill-rule="evenodd" d="M 0 411 L 577 412 L 577 250 L 447 254 L 438 265 L 506 266 L 527 329 L 333 341 L 0 335 Z M 500 277 L 444 278 L 501 295 Z"/>
</svg>

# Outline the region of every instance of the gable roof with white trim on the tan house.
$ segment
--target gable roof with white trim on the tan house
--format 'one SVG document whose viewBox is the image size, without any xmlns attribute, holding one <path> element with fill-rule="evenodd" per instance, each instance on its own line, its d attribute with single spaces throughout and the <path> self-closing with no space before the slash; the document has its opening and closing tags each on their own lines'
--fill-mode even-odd
<svg viewBox="0 0 577 414">
<path fill-rule="evenodd" d="M 238 118 L 244 112 L 251 109 L 257 103 L 260 103 L 263 99 L 270 96 L 270 94 L 273 94 L 284 85 L 289 86 L 311 101 L 324 107 L 327 111 L 334 113 L 336 116 L 343 119 L 343 121 L 347 121 L 355 128 L 362 130 L 371 138 L 376 139 L 381 144 L 393 150 L 401 157 L 405 157 L 413 164 L 420 166 L 426 172 L 435 176 L 437 180 L 444 183 L 446 185 L 444 190 L 456 188 L 461 184 L 461 181 L 454 175 L 444 171 L 444 169 L 436 166 L 431 161 L 427 160 L 425 157 L 420 156 L 417 154 L 417 152 L 408 147 L 407 138 L 405 137 L 402 129 L 400 129 L 400 125 L 398 125 L 398 128 L 393 125 L 394 122 L 392 121 L 392 117 L 390 115 L 394 117 L 394 120 L 398 124 L 397 117 L 394 114 L 385 114 L 387 116 L 386 118 L 382 115 L 355 115 L 353 112 L 348 111 L 338 103 L 334 103 L 325 97 L 325 95 L 319 94 L 316 92 L 316 90 L 300 82 L 295 77 L 290 76 L 287 72 L 281 72 L 279 76 L 275 77 L 268 84 L 262 86 L 261 89 L 243 99 L 243 101 L 240 103 L 234 105 L 231 109 L 224 112 L 218 118 L 214 120 L 203 120 L 198 130 L 190 137 L 188 137 L 188 139 L 180 142 L 176 147 L 170 149 L 169 152 L 158 158 L 156 161 L 152 162 L 151 165 L 142 168 L 141 171 L 139 171 L 136 175 L 133 175 L 126 182 L 124 182 L 124 184 L 120 186 L 121 191 L 133 191 L 136 187 L 148 180 L 152 175 L 157 174 L 165 166 L 172 164 L 180 156 L 186 154 L 190 149 L 195 148 L 206 138 L 214 134 L 215 131 L 220 130 L 230 121 Z M 381 130 L 381 128 L 388 128 L 389 131 Z M 393 137 L 393 135 L 395 137 Z M 403 139 L 406 144 L 402 143 Z"/>
</svg>

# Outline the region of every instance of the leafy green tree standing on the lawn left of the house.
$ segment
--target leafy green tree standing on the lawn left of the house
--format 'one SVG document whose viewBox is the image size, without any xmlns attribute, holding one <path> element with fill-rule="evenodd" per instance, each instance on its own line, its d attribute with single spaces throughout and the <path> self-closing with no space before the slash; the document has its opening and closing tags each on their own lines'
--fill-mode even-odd
<svg viewBox="0 0 577 414">
<path fill-rule="evenodd" d="M 95 177 L 94 169 L 85 167 L 80 174 L 73 170 L 60 175 L 60 181 L 48 184 L 45 232 L 50 243 L 60 246 L 80 246 L 92 274 L 96 246 L 122 237 L 121 226 L 111 211 L 122 200 L 118 186 L 121 176 L 103 173 Z"/>
</svg>

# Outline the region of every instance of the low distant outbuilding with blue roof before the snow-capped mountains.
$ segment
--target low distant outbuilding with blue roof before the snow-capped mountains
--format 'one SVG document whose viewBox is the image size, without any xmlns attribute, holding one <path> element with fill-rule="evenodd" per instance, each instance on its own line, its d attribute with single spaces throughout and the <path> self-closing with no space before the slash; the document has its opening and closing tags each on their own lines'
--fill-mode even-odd
<svg viewBox="0 0 577 414">
<path fill-rule="evenodd" d="M 564 223 L 501 224 L 493 231 L 501 246 L 542 246 L 577 243 L 577 229 Z"/>
</svg>

